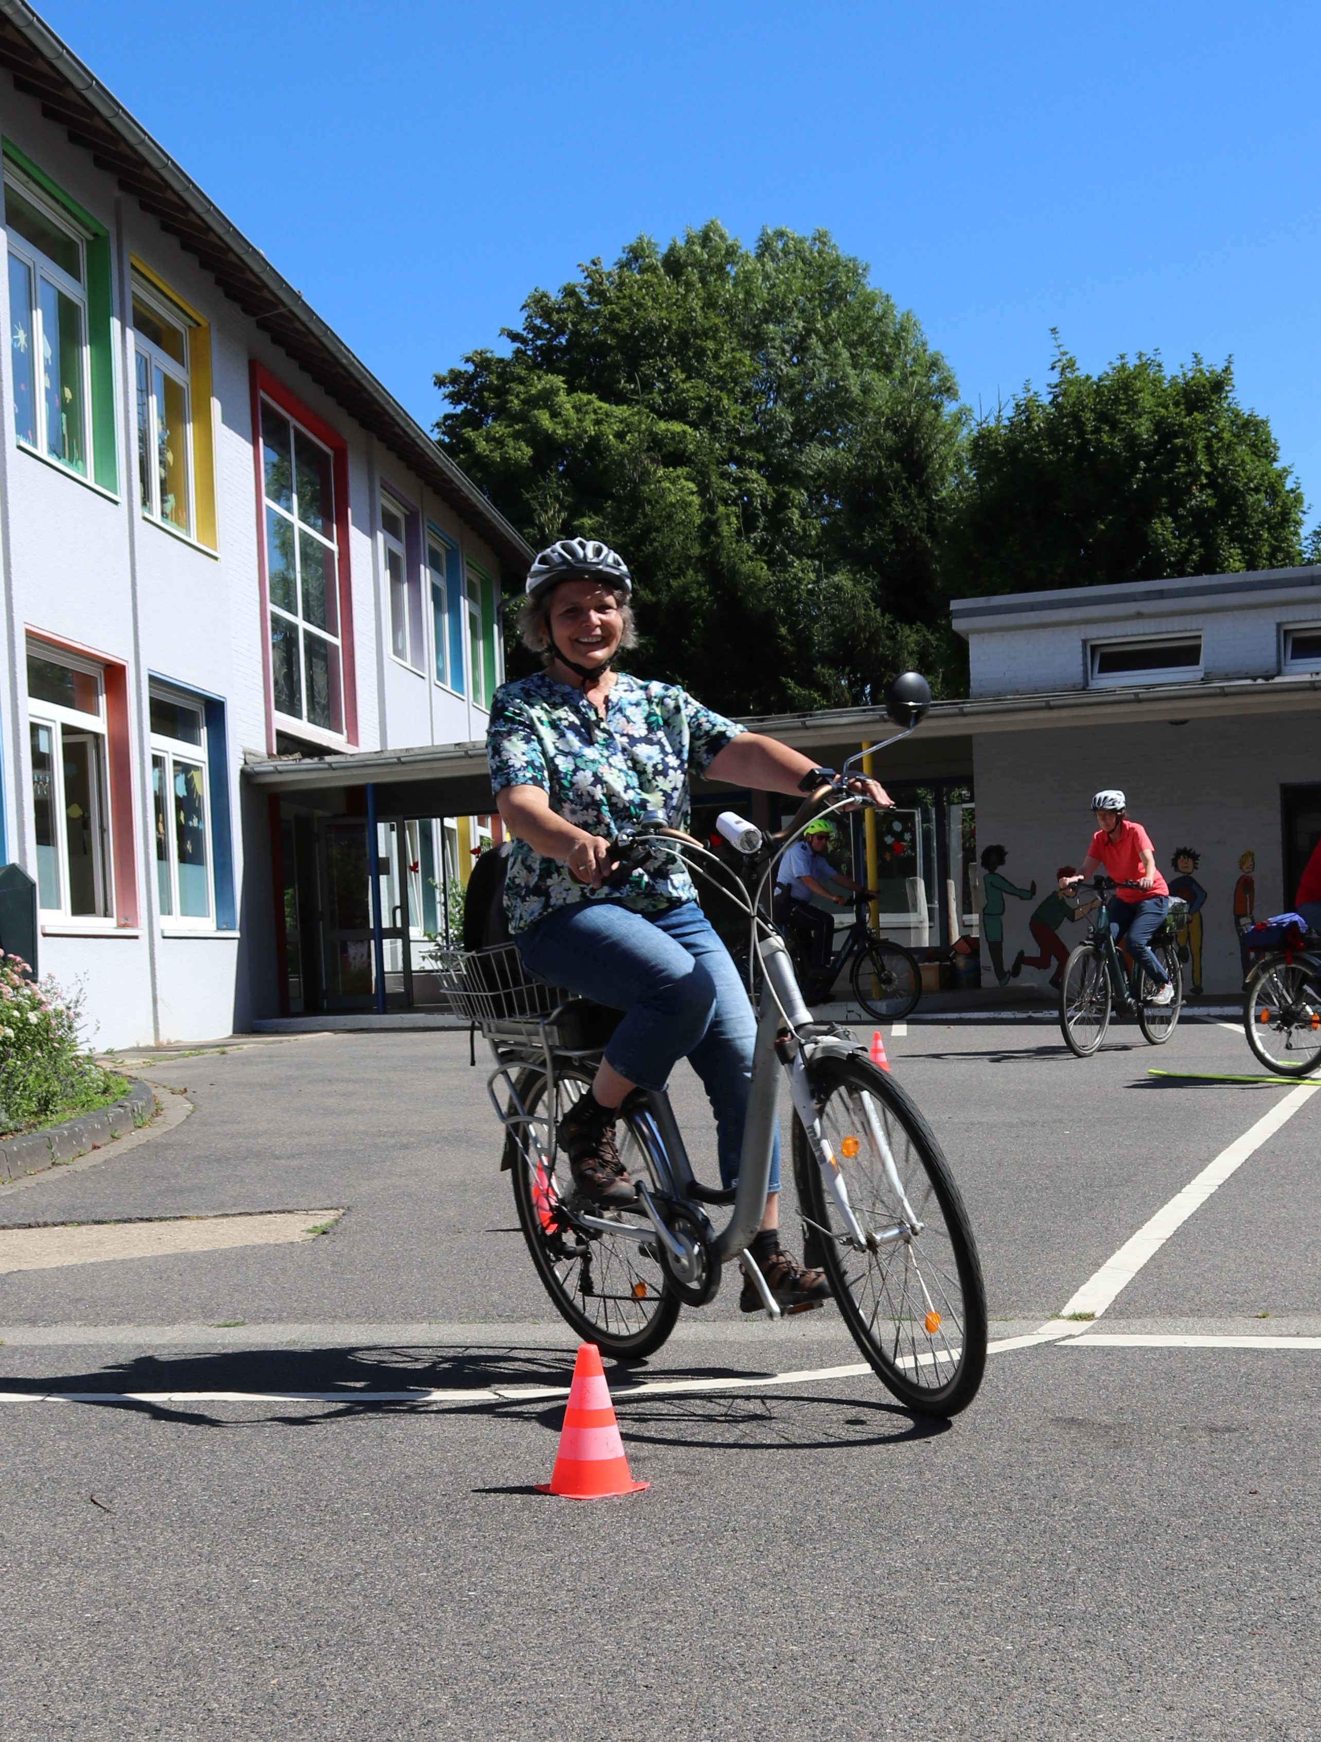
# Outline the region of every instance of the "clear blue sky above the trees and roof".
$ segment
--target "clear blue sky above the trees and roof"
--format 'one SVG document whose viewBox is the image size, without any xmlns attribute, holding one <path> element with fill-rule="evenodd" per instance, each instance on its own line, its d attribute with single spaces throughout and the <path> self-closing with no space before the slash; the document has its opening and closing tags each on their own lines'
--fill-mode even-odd
<svg viewBox="0 0 1321 1742">
<path fill-rule="evenodd" d="M 824 226 L 974 408 L 1044 383 L 1051 327 L 1087 369 L 1232 354 L 1321 512 L 1321 7 L 40 10 L 425 425 L 582 260 Z"/>
</svg>

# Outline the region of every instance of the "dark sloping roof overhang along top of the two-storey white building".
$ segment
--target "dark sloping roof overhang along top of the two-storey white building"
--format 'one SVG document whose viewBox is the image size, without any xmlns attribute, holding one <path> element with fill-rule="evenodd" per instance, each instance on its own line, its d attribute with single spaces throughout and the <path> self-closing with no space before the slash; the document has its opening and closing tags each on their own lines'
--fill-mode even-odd
<svg viewBox="0 0 1321 1742">
<path fill-rule="evenodd" d="M 23 0 L 0 0 L 0 66 L 14 75 L 14 89 L 35 98 L 47 120 L 91 152 L 96 167 L 115 176 L 162 230 L 195 254 L 225 296 L 331 399 L 448 502 L 502 561 L 528 568 L 532 547 L 504 514 Z"/>
</svg>

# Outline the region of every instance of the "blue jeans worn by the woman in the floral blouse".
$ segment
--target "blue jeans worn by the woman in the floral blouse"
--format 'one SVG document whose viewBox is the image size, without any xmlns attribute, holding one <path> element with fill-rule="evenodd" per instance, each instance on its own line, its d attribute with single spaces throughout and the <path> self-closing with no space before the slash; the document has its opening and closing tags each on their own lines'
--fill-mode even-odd
<svg viewBox="0 0 1321 1742">
<path fill-rule="evenodd" d="M 620 1077 L 664 1089 L 678 1059 L 690 1061 L 716 1117 L 720 1179 L 728 1190 L 739 1178 L 756 1017 L 697 902 L 634 913 L 615 901 L 584 901 L 556 908 L 514 941 L 539 979 L 624 1010 L 605 1049 Z M 769 1190 L 779 1192 L 779 1136 Z"/>
</svg>

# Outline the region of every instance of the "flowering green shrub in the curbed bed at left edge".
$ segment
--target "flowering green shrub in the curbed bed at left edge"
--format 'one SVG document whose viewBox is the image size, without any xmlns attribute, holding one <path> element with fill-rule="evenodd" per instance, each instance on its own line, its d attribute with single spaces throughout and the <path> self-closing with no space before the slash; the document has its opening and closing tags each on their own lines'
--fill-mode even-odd
<svg viewBox="0 0 1321 1742">
<path fill-rule="evenodd" d="M 78 1043 L 82 991 L 24 974 L 21 956 L 0 955 L 0 1131 L 40 1125 L 122 1092 Z"/>
</svg>

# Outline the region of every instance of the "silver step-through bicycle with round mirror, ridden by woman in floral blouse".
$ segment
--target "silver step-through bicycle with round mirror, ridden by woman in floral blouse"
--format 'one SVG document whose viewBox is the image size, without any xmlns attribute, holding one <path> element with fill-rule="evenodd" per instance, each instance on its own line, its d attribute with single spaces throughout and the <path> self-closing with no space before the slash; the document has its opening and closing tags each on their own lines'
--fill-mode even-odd
<svg viewBox="0 0 1321 1742">
<path fill-rule="evenodd" d="M 929 702 L 917 674 L 896 679 L 887 711 L 903 730 L 887 742 L 911 732 Z M 910 1096 L 847 1028 L 814 1021 L 762 906 L 776 862 L 805 824 L 857 803 L 845 786 L 849 765 L 805 801 L 784 838 L 763 841 L 746 822 L 721 831 L 742 850 L 742 874 L 662 817 L 613 843 L 622 874 L 680 857 L 748 916 L 749 976 L 760 998 L 734 1190 L 694 1176 L 669 1097 L 640 1089 L 619 1122 L 636 1207 L 601 1209 L 584 1198 L 556 1148 L 556 1129 L 593 1080 L 619 1012 L 533 981 L 512 944 L 457 953 L 443 972 L 455 1007 L 481 1028 L 495 1057 L 488 1092 L 505 1127 L 502 1165 L 512 1172 L 532 1261 L 582 1338 L 619 1359 L 650 1355 L 683 1306 L 715 1298 L 732 1259 L 742 1261 L 767 1315 L 782 1317 L 749 1244 L 765 1207 L 784 1078 L 805 1261 L 824 1266 L 880 1380 L 908 1408 L 950 1416 L 972 1402 L 986 1361 L 986 1298 L 967 1211 Z M 708 1216 L 716 1205 L 730 1207 L 720 1233 Z"/>
</svg>

